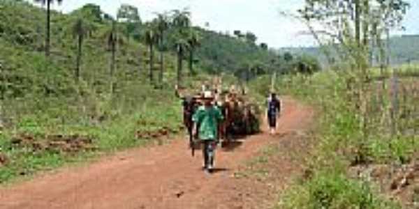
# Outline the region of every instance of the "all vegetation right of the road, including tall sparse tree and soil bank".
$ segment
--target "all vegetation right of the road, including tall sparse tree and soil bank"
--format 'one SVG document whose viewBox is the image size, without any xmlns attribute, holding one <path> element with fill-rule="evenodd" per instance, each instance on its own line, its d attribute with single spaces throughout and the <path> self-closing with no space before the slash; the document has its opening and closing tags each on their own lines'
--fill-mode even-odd
<svg viewBox="0 0 419 209">
<path fill-rule="evenodd" d="M 277 208 L 418 205 L 419 68 L 388 65 L 383 48 L 383 34 L 399 26 L 409 4 L 379 3 L 383 5 L 376 8 L 369 1 L 307 1 L 299 10 L 301 20 L 321 45 L 334 49 L 331 53 L 337 53 L 339 61 L 329 56 L 328 70 L 277 79 L 260 77 L 252 83 L 251 88 L 265 95 L 271 90 L 267 86 L 274 83 L 280 95 L 293 95 L 317 112 L 312 136 L 316 146 L 307 150 L 311 156 L 304 164 L 304 175 L 295 178 L 293 187 L 281 195 Z M 347 13 L 328 15 L 336 10 Z M 372 15 L 377 11 L 394 16 Z M 345 15 L 355 18 L 345 19 Z M 328 26 L 335 31 L 316 31 L 310 27 L 312 22 L 331 23 Z M 371 68 L 371 56 L 381 68 Z"/>
</svg>

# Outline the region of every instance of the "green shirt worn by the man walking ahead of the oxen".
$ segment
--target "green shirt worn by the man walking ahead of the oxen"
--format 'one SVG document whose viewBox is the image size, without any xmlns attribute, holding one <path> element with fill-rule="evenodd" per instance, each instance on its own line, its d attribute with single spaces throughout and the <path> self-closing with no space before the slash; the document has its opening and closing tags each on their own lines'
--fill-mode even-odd
<svg viewBox="0 0 419 209">
<path fill-rule="evenodd" d="M 201 106 L 192 121 L 199 124 L 198 134 L 201 140 L 214 140 L 217 137 L 218 123 L 223 120 L 223 115 L 218 107 L 205 108 Z"/>
</svg>

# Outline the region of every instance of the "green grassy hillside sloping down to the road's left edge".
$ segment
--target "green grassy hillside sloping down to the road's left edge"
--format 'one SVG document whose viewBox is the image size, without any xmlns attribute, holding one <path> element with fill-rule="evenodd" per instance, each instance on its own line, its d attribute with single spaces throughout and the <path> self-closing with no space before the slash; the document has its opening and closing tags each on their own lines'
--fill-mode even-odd
<svg viewBox="0 0 419 209">
<path fill-rule="evenodd" d="M 25 1 L 0 0 L 0 183 L 84 160 L 91 153 L 150 143 L 148 139 L 179 132 L 182 127 L 180 102 L 173 93 L 174 47 L 164 54 L 162 88 L 149 84 L 149 52 L 138 37 L 118 43 L 115 73 L 110 75 L 110 17 L 84 9 L 97 7 L 89 5 L 68 15 L 52 11 L 51 54 L 45 58 L 45 10 Z M 84 40 L 77 82 L 78 42 L 72 29 L 79 17 L 94 30 Z M 203 38 L 201 47 L 205 48 L 211 42 Z M 221 38 L 221 42 L 233 39 Z M 242 43 L 237 49 L 244 51 L 247 45 Z M 214 53 L 223 54 L 223 50 L 216 48 Z M 246 60 L 241 56 L 235 54 L 233 59 Z M 198 57 L 198 75 L 185 73 L 186 87 L 210 80 L 200 66 L 217 60 L 203 54 Z M 154 69 L 158 77 L 157 62 Z"/>
</svg>

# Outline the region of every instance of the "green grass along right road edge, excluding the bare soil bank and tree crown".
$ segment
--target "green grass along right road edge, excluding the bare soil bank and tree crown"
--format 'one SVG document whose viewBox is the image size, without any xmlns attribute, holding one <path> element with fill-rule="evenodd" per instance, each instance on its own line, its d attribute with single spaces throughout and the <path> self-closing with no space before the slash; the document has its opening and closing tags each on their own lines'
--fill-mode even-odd
<svg viewBox="0 0 419 209">
<path fill-rule="evenodd" d="M 326 70 L 310 77 L 297 74 L 277 79 L 275 89 L 280 96 L 293 95 L 316 107 L 318 112 L 318 145 L 309 162 L 314 176 L 297 182 L 297 186 L 286 192 L 279 208 L 397 208 L 378 196 L 371 183 L 347 177 L 346 167 L 351 164 L 409 163 L 419 151 L 417 137 L 411 134 L 412 127 L 409 125 L 400 125 L 403 131 L 399 130 L 398 135 L 391 136 L 390 128 L 381 123 L 383 112 L 377 110 L 369 111 L 366 137 L 356 108 L 359 101 L 353 100 L 353 92 L 348 90 L 349 77 L 344 72 Z M 408 81 L 405 79 L 404 83 L 407 85 Z M 250 88 L 267 95 L 269 84 L 270 77 L 260 77 L 251 82 Z M 376 98 L 374 93 L 372 95 Z M 400 109 L 416 107 L 413 100 L 417 96 L 411 94 L 410 97 L 411 100 L 401 103 Z M 373 98 L 369 98 L 369 108 L 381 105 Z M 390 103 L 390 98 L 385 95 L 383 99 L 385 104 Z M 417 111 L 413 108 L 409 112 Z M 402 121 L 408 123 L 409 119 L 402 119 L 399 123 Z"/>
</svg>

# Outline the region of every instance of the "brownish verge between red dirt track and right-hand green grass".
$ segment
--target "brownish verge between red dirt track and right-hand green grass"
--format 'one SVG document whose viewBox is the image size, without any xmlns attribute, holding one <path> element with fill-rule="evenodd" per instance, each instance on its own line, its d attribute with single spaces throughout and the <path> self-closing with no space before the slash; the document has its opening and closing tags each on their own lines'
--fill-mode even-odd
<svg viewBox="0 0 419 209">
<path fill-rule="evenodd" d="M 247 201 L 256 199 L 256 208 L 277 206 L 278 194 L 287 191 L 289 185 L 300 178 L 314 143 L 310 126 L 311 123 L 304 130 L 289 131 L 270 139 L 270 144 L 234 173 L 237 184 L 251 185 L 251 199 Z"/>
</svg>

